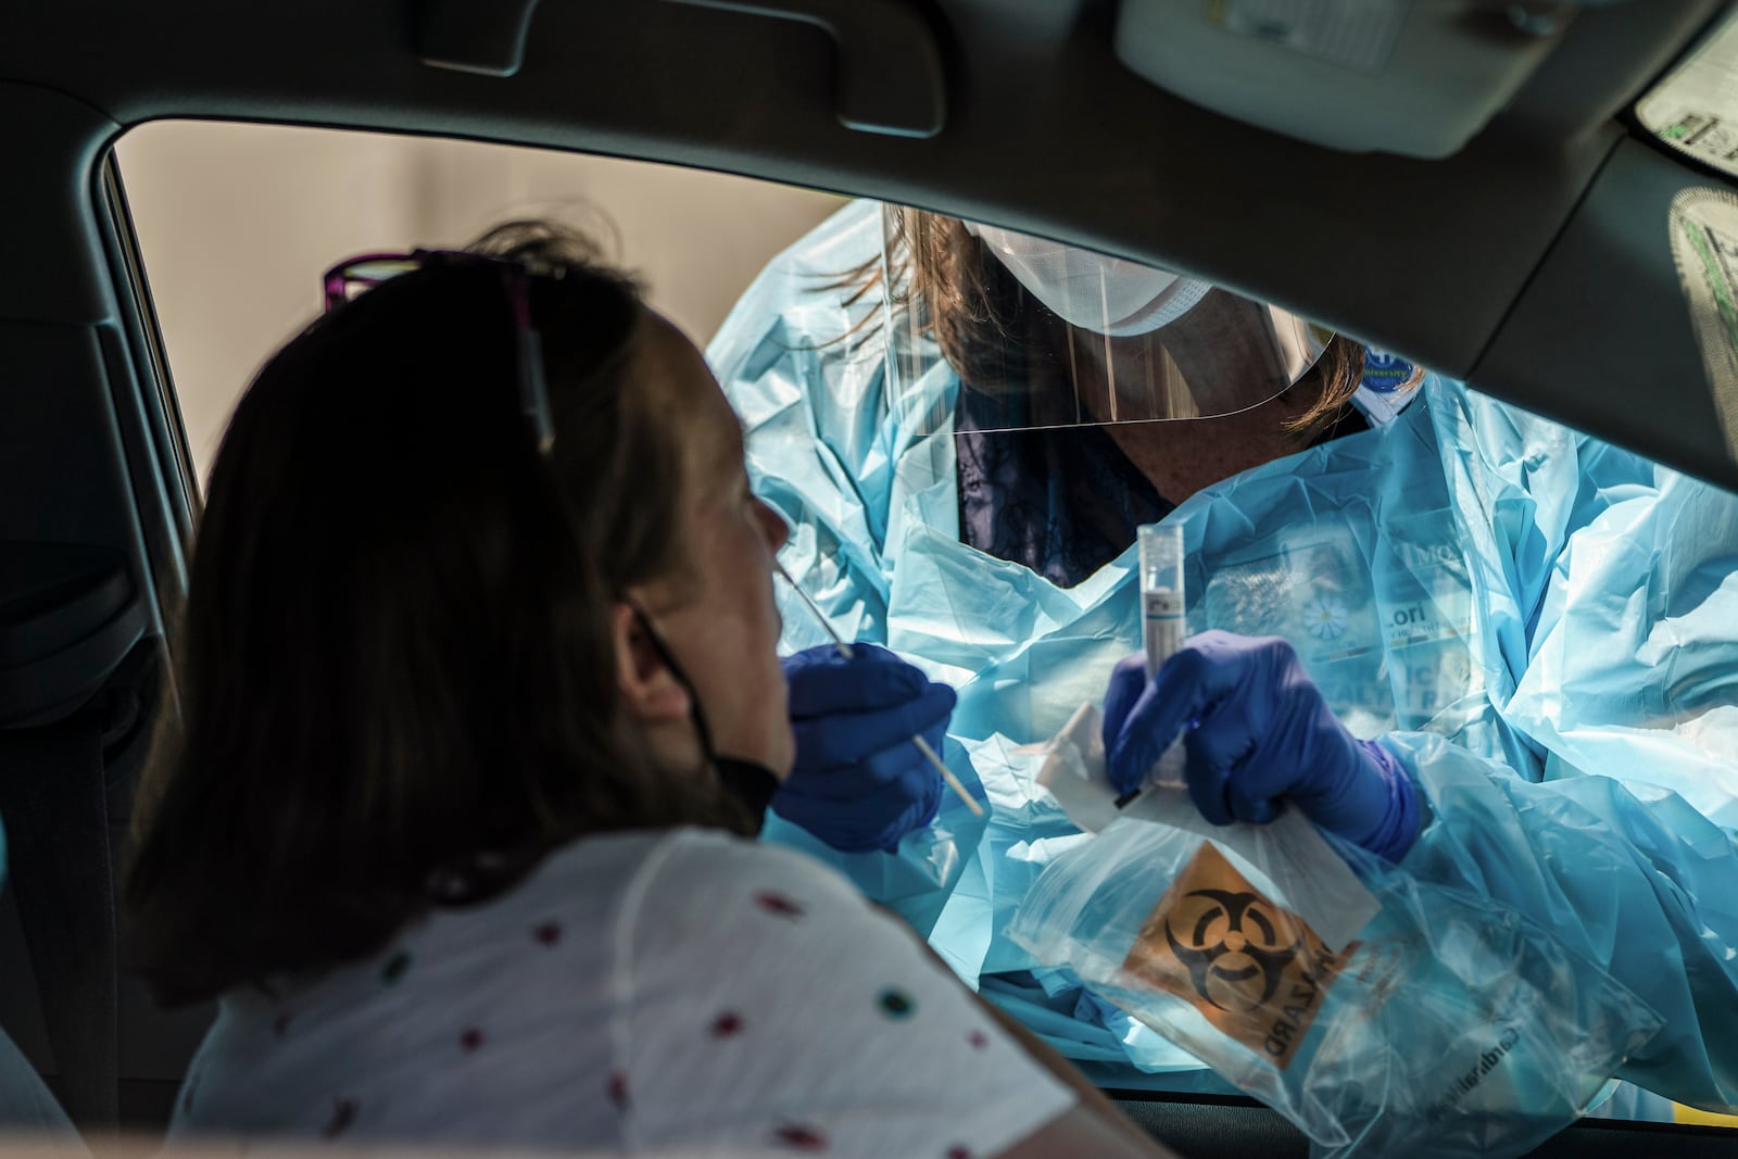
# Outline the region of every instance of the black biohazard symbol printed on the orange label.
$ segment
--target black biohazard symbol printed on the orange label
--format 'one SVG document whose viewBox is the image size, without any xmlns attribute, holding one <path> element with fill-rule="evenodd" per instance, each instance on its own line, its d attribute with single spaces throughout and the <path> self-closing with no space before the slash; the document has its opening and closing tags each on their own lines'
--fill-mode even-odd
<svg viewBox="0 0 1738 1159">
<path fill-rule="evenodd" d="M 1177 937 L 1178 921 L 1184 937 Z M 1224 1011 L 1265 1006 L 1302 944 L 1257 893 L 1194 890 L 1164 916 L 1164 940 L 1189 970 L 1196 994 Z M 1257 985 L 1258 983 L 1258 985 Z"/>
</svg>

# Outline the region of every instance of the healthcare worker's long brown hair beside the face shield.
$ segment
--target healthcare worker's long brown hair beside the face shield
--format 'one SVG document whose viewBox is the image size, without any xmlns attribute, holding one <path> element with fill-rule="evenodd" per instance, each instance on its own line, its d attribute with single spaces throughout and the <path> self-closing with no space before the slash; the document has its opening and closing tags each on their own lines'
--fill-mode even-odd
<svg viewBox="0 0 1738 1159">
<path fill-rule="evenodd" d="M 886 252 L 846 278 L 852 301 L 888 295 L 897 309 L 911 309 L 919 327 L 935 339 L 942 356 L 973 387 L 994 393 L 1010 374 L 1018 374 L 1036 327 L 1022 318 L 1045 311 L 1018 278 L 973 236 L 958 217 L 918 209 L 890 209 Z M 1331 427 L 1357 393 L 1364 374 L 1364 348 L 1335 337 L 1286 394 L 1309 400 L 1283 427 L 1297 445 L 1307 447 Z"/>
</svg>

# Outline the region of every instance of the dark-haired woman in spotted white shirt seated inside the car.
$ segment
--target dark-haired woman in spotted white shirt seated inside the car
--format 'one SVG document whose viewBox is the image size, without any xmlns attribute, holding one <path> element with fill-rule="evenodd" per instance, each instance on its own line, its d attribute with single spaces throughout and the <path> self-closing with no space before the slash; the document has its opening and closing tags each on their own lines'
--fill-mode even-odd
<svg viewBox="0 0 1738 1159">
<path fill-rule="evenodd" d="M 744 839 L 786 530 L 699 351 L 541 228 L 327 295 L 224 436 L 130 865 L 156 990 L 219 1003 L 172 1138 L 1161 1154 Z"/>
</svg>

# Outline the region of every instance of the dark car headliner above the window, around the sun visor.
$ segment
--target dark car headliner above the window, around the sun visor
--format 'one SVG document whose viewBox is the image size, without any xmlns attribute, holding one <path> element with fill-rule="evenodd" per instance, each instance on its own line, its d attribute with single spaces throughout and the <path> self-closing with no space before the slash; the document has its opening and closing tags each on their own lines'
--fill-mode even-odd
<svg viewBox="0 0 1738 1159">
<path fill-rule="evenodd" d="M 857 5 L 862 19 L 834 21 L 836 49 L 813 23 L 673 0 L 14 2 L 0 5 L 0 99 L 12 106 L 0 266 L 68 269 L 90 236 L 89 198 L 68 182 L 89 182 L 106 144 L 151 118 L 586 149 L 1145 257 L 1738 483 L 1738 431 L 1710 401 L 1665 242 L 1670 195 L 1714 181 L 1620 123 L 1724 5 L 1589 9 L 1516 101 L 1437 162 L 1337 153 L 1191 106 L 1116 63 L 1114 7 Z M 441 56 L 429 43 L 447 30 L 431 21 L 452 17 L 469 33 L 461 45 L 483 45 L 520 14 L 530 21 L 511 76 L 419 56 Z M 843 101 L 893 115 L 928 103 L 940 130 L 853 130 Z M 92 321 L 106 299 L 101 276 L 0 281 L 0 316 Z"/>
</svg>

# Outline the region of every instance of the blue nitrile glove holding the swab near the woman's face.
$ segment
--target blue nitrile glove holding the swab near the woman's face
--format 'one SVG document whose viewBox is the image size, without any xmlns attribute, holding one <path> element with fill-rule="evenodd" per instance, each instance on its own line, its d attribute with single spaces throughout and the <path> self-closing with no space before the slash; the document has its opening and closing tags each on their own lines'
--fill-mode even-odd
<svg viewBox="0 0 1738 1159">
<path fill-rule="evenodd" d="M 886 648 L 852 652 L 786 657 L 796 766 L 772 808 L 843 853 L 892 850 L 940 808 L 942 778 L 911 738 L 940 752 L 956 697 Z"/>
</svg>

